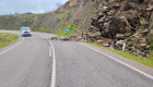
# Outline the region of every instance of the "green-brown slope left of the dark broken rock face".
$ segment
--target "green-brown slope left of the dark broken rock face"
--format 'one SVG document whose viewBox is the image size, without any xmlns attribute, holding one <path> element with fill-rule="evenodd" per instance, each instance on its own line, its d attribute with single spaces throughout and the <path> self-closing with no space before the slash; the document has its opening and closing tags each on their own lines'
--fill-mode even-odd
<svg viewBox="0 0 153 87">
<path fill-rule="evenodd" d="M 30 26 L 33 30 L 55 32 L 67 24 L 75 24 L 81 30 L 89 28 L 97 4 L 91 0 L 70 0 L 58 10 L 45 14 L 13 14 L 0 16 L 0 28 L 20 29 Z M 62 24 L 66 25 L 62 25 Z"/>
</svg>

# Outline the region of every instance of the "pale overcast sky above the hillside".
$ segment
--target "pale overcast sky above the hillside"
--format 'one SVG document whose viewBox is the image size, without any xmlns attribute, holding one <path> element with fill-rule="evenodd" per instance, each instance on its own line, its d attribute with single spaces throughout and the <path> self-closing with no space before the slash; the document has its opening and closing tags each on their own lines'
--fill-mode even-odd
<svg viewBox="0 0 153 87">
<path fill-rule="evenodd" d="M 17 13 L 43 13 L 52 11 L 68 0 L 0 0 L 0 15 Z"/>
</svg>

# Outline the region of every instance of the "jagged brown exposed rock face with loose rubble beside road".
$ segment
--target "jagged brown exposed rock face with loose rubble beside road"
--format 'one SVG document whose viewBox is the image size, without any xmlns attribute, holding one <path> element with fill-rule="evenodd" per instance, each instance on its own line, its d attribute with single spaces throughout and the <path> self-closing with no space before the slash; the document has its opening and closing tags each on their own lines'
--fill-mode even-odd
<svg viewBox="0 0 153 87">
<path fill-rule="evenodd" d="M 138 5 L 132 0 L 103 0 L 92 17 L 86 39 L 138 57 L 149 57 L 146 37 L 152 26 L 152 5 L 150 0 L 140 0 Z"/>
</svg>

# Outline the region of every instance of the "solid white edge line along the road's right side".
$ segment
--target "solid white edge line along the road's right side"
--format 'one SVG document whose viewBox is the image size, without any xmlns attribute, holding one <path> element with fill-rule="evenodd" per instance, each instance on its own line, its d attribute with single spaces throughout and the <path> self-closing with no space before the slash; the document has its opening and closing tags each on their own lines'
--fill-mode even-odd
<svg viewBox="0 0 153 87">
<path fill-rule="evenodd" d="M 142 74 L 142 75 L 144 75 L 144 76 L 146 76 L 146 77 L 149 77 L 149 78 L 151 78 L 151 79 L 153 79 L 153 76 L 152 76 L 152 75 L 146 74 L 146 73 L 144 73 L 144 72 L 142 72 L 142 71 L 140 71 L 140 70 L 138 70 L 138 69 L 136 69 L 136 67 L 133 67 L 133 66 L 131 66 L 131 65 L 129 65 L 129 64 L 127 64 L 127 63 L 125 63 L 125 62 L 122 62 L 122 61 L 119 61 L 119 60 L 117 60 L 117 59 L 115 59 L 115 58 L 113 58 L 113 57 L 110 57 L 110 55 L 108 55 L 108 54 L 106 54 L 106 53 L 104 53 L 104 52 L 101 52 L 101 51 L 98 51 L 98 50 L 96 50 L 96 49 L 94 49 L 94 48 L 91 48 L 91 47 L 89 47 L 89 46 L 86 46 L 86 45 L 83 45 L 83 44 L 81 44 L 81 42 L 78 42 L 78 44 L 81 45 L 81 46 L 84 46 L 84 47 L 86 47 L 86 48 L 89 48 L 89 49 L 92 49 L 92 50 L 94 50 L 94 51 L 96 51 L 96 52 L 98 52 L 98 53 L 101 53 L 101 54 L 104 54 L 104 55 L 106 55 L 106 57 L 108 57 L 108 58 L 110 58 L 110 59 L 113 59 L 113 60 L 115 60 L 115 61 L 121 63 L 122 65 L 126 65 L 127 67 L 130 67 L 130 69 L 137 71 L 138 73 L 140 73 L 140 74 Z"/>
</svg>

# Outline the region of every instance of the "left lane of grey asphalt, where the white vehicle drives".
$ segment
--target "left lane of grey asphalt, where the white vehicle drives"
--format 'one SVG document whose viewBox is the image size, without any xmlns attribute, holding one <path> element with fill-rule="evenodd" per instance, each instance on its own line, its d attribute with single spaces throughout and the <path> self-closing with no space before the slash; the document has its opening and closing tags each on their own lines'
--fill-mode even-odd
<svg viewBox="0 0 153 87">
<path fill-rule="evenodd" d="M 15 45 L 0 55 L 0 87 L 49 87 L 51 59 L 48 42 L 37 35 L 21 37 L 0 52 Z"/>
</svg>

